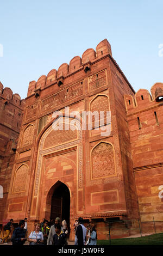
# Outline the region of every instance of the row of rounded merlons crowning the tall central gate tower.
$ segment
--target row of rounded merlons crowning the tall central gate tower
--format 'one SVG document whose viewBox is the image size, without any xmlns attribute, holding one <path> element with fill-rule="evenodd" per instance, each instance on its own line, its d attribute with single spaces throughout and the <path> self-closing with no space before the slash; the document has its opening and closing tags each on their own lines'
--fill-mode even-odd
<svg viewBox="0 0 163 256">
<path fill-rule="evenodd" d="M 54 83 L 60 86 L 64 83 L 64 79 L 67 76 L 79 71 L 80 69 L 84 69 L 86 72 L 90 69 L 92 62 L 106 56 L 107 54 L 111 55 L 111 46 L 108 40 L 104 39 L 96 46 L 96 51 L 92 48 L 89 48 L 82 54 L 82 58 L 75 56 L 70 60 L 69 65 L 67 63 L 63 63 L 59 66 L 58 70 L 52 69 L 49 71 L 47 76 L 40 76 L 37 82 L 29 82 L 27 96 L 33 95 L 37 90 L 41 90 Z"/>
</svg>

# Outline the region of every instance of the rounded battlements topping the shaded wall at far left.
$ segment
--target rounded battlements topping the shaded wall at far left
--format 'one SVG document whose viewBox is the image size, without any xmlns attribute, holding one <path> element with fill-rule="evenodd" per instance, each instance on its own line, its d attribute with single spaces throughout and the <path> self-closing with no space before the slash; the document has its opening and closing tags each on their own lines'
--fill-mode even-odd
<svg viewBox="0 0 163 256">
<path fill-rule="evenodd" d="M 24 108 L 26 106 L 26 100 L 22 99 L 21 96 L 17 93 L 13 94 L 12 90 L 9 87 L 3 87 L 3 84 L 0 82 L 0 97 L 4 99 L 4 103 L 7 104 L 9 101 L 17 106 Z"/>
</svg>

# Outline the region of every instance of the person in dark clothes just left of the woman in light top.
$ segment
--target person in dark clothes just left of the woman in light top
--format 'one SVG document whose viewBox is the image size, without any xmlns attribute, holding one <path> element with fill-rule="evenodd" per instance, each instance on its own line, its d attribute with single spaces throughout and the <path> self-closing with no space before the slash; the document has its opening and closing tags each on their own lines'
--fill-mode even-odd
<svg viewBox="0 0 163 256">
<path fill-rule="evenodd" d="M 26 232 L 24 231 L 25 221 L 22 220 L 19 223 L 19 227 L 14 229 L 11 237 L 12 245 L 23 245 L 26 242 Z"/>
</svg>

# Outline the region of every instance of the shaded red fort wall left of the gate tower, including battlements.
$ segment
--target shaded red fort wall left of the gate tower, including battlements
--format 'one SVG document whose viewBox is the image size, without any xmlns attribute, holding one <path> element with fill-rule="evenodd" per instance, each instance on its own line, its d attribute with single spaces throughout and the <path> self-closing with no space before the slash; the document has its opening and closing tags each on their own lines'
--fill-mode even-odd
<svg viewBox="0 0 163 256">
<path fill-rule="evenodd" d="M 22 111 L 25 106 L 26 102 L 21 100 L 20 95 L 13 94 L 8 87 L 3 88 L 0 82 L 0 180 L 3 186 L 3 199 L 0 199 L 1 223 L 4 219 Z"/>
</svg>

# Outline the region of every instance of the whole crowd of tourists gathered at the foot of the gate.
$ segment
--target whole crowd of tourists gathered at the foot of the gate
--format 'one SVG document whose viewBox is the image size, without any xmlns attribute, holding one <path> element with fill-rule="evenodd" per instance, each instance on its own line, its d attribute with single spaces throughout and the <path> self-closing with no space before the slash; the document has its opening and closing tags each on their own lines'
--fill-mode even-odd
<svg viewBox="0 0 163 256">
<path fill-rule="evenodd" d="M 10 234 L 11 225 L 13 220 L 11 219 L 7 225 L 4 226 L 6 235 L 2 237 L 1 242 L 7 243 L 7 239 Z M 96 245 L 97 231 L 95 223 L 84 221 L 79 217 L 74 223 L 74 230 L 76 231 L 74 245 Z M 68 228 L 66 221 L 60 223 L 60 218 L 55 218 L 55 222 L 48 225 L 48 221 L 43 219 L 42 223 L 36 223 L 34 230 L 27 237 L 27 218 L 21 220 L 18 228 L 15 228 L 11 236 L 12 245 L 23 245 L 27 240 L 29 245 L 59 245 L 65 246 L 67 243 Z"/>
</svg>

